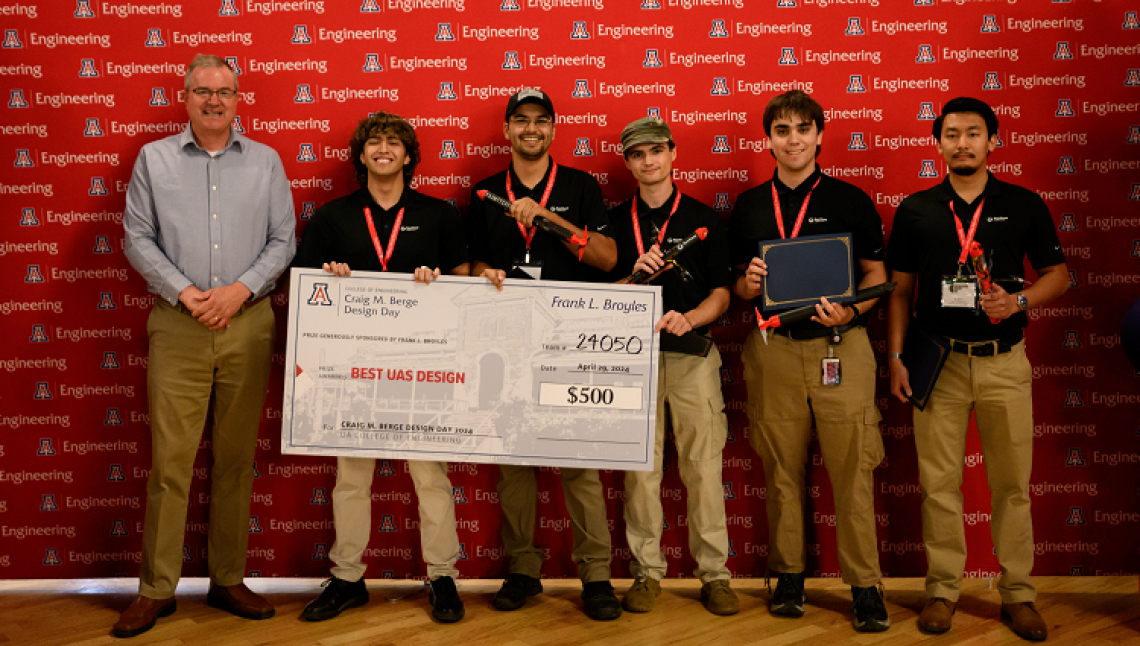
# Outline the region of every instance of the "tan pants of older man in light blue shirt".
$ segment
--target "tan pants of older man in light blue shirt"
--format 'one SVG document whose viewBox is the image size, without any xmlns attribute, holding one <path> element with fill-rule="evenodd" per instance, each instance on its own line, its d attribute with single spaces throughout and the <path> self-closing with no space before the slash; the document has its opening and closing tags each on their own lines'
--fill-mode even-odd
<svg viewBox="0 0 1140 646">
<path fill-rule="evenodd" d="M 163 300 L 147 320 L 150 340 L 147 398 L 152 467 L 139 594 L 174 595 L 182 572 L 186 506 L 194 458 L 213 396 L 210 484 L 210 580 L 236 586 L 245 577 L 253 458 L 269 386 L 274 310 L 268 300 L 210 332 Z"/>
</svg>

